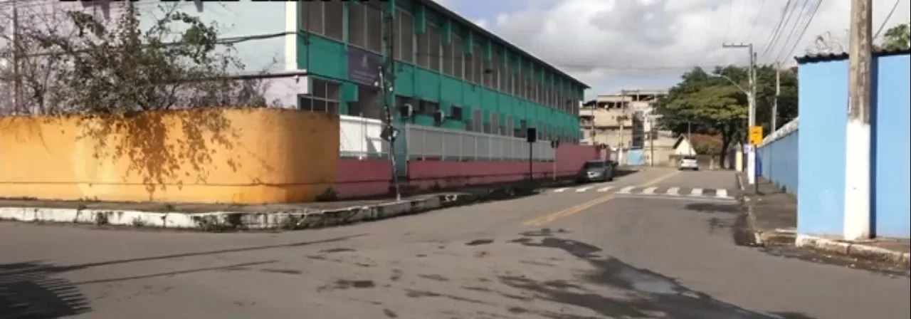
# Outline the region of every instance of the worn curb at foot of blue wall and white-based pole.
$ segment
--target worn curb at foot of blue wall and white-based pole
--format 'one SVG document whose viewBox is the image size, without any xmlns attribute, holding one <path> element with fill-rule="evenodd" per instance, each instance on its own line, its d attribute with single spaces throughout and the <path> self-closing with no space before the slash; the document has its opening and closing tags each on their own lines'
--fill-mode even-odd
<svg viewBox="0 0 911 319">
<path fill-rule="evenodd" d="M 879 247 L 868 246 L 863 243 L 841 242 L 809 235 L 797 235 L 794 244 L 797 247 L 809 248 L 821 252 L 835 253 L 876 262 L 888 262 L 904 268 L 911 267 L 911 262 L 909 262 L 909 260 L 911 260 L 911 254 L 908 252 L 895 252 Z"/>
</svg>

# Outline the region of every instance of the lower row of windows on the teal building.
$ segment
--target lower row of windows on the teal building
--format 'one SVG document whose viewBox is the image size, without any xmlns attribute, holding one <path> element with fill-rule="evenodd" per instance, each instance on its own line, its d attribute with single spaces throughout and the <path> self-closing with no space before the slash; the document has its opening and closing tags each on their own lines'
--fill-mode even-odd
<svg viewBox="0 0 911 319">
<path fill-rule="evenodd" d="M 311 94 L 301 95 L 299 97 L 299 106 L 302 110 L 338 114 L 341 111 L 341 88 L 342 86 L 339 83 L 314 78 L 312 79 Z M 377 93 L 378 92 L 369 92 L 369 89 L 362 92 L 361 96 L 365 103 L 363 103 L 363 105 L 360 102 L 354 103 L 354 105 L 349 103 L 348 113 L 354 116 L 382 119 L 380 117 L 384 112 L 380 107 L 380 101 L 375 98 Z M 439 105 L 432 101 L 419 100 L 415 102 L 412 98 L 405 98 L 402 96 L 395 97 L 396 107 L 402 107 L 405 103 L 411 103 L 415 106 L 415 112 L 417 114 L 427 116 L 433 116 L 439 109 Z M 521 121 L 522 124 L 520 127 L 514 128 L 513 118 L 511 116 L 507 116 L 505 120 L 506 123 L 501 125 L 499 124 L 501 114 L 497 112 L 491 113 L 490 121 L 486 122 L 482 120 L 481 110 L 478 108 L 472 109 L 472 117 L 467 120 L 464 118 L 463 111 L 464 108 L 453 106 L 450 108 L 450 114 L 447 116 L 447 120 L 463 121 L 466 125 L 466 130 L 468 131 L 525 138 L 527 129 L 527 122 L 525 120 Z M 568 133 L 569 131 L 565 129 L 548 129 L 548 127 L 542 127 L 537 130 L 538 139 L 548 140 L 572 140 L 568 137 Z"/>
</svg>

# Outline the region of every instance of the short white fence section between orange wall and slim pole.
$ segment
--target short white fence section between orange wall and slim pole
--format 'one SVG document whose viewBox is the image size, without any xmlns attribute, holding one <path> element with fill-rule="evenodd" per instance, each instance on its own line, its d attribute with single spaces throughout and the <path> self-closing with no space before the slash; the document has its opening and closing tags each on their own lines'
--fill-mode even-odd
<svg viewBox="0 0 911 319">
<path fill-rule="evenodd" d="M 389 144 L 380 139 L 383 122 L 374 118 L 339 117 L 339 151 L 343 158 L 381 159 L 389 155 Z"/>
</svg>

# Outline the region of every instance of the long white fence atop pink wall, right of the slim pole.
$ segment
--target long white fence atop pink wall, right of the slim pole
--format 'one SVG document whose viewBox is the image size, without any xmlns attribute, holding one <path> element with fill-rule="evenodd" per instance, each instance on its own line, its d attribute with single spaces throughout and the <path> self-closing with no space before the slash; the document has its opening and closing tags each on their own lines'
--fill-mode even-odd
<svg viewBox="0 0 911 319">
<path fill-rule="evenodd" d="M 409 159 L 528 160 L 526 139 L 419 125 L 405 128 Z M 538 140 L 532 151 L 534 160 L 556 158 L 548 140 Z"/>
</svg>

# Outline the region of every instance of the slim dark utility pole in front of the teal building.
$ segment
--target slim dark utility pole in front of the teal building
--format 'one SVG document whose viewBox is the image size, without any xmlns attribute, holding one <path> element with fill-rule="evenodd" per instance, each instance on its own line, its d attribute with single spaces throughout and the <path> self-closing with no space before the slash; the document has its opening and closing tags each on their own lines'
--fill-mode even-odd
<svg viewBox="0 0 911 319">
<path fill-rule="evenodd" d="M 380 7 L 383 12 L 383 39 L 386 45 L 383 66 L 380 67 L 380 96 L 383 97 L 385 118 L 383 127 L 383 136 L 389 142 L 389 162 L 393 166 L 393 188 L 395 191 L 395 201 L 402 201 L 402 192 L 399 190 L 398 170 L 395 165 L 395 138 L 397 130 L 394 127 L 393 106 L 395 103 L 395 20 L 394 13 L 390 12 L 385 5 Z"/>
</svg>

